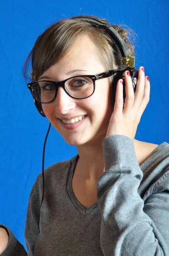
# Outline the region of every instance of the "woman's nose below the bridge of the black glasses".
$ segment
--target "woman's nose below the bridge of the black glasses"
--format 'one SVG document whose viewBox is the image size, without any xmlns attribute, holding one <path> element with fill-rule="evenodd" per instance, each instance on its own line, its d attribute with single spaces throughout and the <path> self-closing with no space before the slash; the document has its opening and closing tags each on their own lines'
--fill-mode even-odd
<svg viewBox="0 0 169 256">
<path fill-rule="evenodd" d="M 71 98 L 62 87 L 58 88 L 55 109 L 59 114 L 66 114 L 76 106 L 76 99 Z"/>
</svg>

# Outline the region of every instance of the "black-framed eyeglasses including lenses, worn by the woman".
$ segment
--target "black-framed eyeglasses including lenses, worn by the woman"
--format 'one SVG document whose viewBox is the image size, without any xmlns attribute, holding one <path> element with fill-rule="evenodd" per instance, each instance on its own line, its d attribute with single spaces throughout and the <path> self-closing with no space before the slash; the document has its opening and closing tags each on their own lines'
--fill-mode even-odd
<svg viewBox="0 0 169 256">
<path fill-rule="evenodd" d="M 113 76 L 121 70 L 109 70 L 99 75 L 73 76 L 64 81 L 33 81 L 28 84 L 32 96 L 37 102 L 50 103 L 58 92 L 58 88 L 62 87 L 65 92 L 74 99 L 86 99 L 95 91 L 95 81 Z"/>
</svg>

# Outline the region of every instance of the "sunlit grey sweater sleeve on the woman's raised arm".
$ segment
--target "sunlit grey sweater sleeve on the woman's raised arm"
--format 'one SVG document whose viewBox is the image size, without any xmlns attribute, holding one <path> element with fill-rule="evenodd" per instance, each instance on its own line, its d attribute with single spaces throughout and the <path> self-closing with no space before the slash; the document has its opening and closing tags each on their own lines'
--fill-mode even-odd
<svg viewBox="0 0 169 256">
<path fill-rule="evenodd" d="M 144 203 L 133 140 L 112 135 L 102 145 L 105 172 L 98 179 L 97 201 L 104 256 L 169 256 L 169 181 Z"/>
</svg>

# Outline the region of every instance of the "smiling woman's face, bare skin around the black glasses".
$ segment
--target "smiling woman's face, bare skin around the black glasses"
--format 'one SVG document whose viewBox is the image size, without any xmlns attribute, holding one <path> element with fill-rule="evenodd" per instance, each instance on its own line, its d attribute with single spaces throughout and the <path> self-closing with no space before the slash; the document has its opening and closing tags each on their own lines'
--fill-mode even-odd
<svg viewBox="0 0 169 256">
<path fill-rule="evenodd" d="M 51 81 L 62 81 L 73 76 L 96 75 L 104 71 L 105 67 L 99 61 L 95 45 L 88 36 L 84 36 L 42 76 L 48 76 Z M 110 80 L 96 80 L 95 85 L 95 92 L 87 99 L 73 99 L 59 87 L 56 99 L 42 104 L 49 122 L 70 145 L 96 145 L 106 136 L 111 116 Z M 85 118 L 72 125 L 62 122 L 62 119 L 70 120 L 79 116 Z"/>
</svg>

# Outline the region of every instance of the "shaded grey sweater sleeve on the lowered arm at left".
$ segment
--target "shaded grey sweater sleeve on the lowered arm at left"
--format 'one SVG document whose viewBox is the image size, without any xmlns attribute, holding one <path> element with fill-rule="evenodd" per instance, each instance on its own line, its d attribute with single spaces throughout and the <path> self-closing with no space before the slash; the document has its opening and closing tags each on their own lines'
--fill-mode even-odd
<svg viewBox="0 0 169 256">
<path fill-rule="evenodd" d="M 34 248 L 39 234 L 39 214 L 40 206 L 37 194 L 36 183 L 31 189 L 28 202 L 26 224 L 25 224 L 25 243 L 28 249 L 26 252 L 24 246 L 16 239 L 12 231 L 5 225 L 0 225 L 7 230 L 9 236 L 8 246 L 0 256 L 33 256 Z"/>
</svg>

